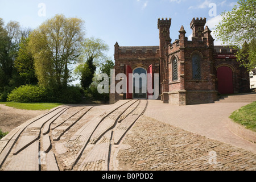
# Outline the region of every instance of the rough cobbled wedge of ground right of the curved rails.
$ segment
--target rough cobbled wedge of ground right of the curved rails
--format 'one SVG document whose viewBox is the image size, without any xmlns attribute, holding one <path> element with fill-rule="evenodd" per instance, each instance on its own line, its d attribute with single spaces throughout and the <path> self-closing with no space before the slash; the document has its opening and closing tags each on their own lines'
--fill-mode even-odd
<svg viewBox="0 0 256 182">
<path fill-rule="evenodd" d="M 256 170 L 256 154 L 142 116 L 122 142 L 119 170 Z M 128 148 L 128 149 L 127 149 Z"/>
</svg>

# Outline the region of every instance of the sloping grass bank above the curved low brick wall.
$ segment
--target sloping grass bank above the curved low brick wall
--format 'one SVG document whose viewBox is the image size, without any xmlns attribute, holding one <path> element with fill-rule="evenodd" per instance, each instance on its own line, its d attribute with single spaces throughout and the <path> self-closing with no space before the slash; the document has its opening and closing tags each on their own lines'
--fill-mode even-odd
<svg viewBox="0 0 256 182">
<path fill-rule="evenodd" d="M 246 129 L 256 132 L 256 102 L 234 111 L 229 118 L 233 119 L 234 122 L 245 126 Z"/>
</svg>

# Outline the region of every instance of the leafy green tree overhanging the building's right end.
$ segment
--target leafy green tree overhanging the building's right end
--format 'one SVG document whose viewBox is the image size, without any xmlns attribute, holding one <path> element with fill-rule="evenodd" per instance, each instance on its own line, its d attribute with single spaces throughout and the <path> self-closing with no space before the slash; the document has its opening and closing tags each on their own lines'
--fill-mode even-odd
<svg viewBox="0 0 256 182">
<path fill-rule="evenodd" d="M 240 0 L 232 11 L 222 13 L 217 25 L 217 39 L 238 49 L 237 60 L 248 70 L 256 67 L 256 1 Z M 247 49 L 242 48 L 245 43 Z M 248 61 L 245 61 L 248 60 Z"/>
</svg>

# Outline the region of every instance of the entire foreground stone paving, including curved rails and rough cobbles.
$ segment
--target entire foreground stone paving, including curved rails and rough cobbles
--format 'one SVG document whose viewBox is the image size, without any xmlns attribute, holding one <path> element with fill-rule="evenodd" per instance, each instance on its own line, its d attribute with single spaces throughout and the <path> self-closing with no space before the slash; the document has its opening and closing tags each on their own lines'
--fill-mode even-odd
<svg viewBox="0 0 256 182">
<path fill-rule="evenodd" d="M 147 117 L 152 103 L 56 107 L 0 140 L 0 170 L 256 171 L 255 153 Z"/>
</svg>

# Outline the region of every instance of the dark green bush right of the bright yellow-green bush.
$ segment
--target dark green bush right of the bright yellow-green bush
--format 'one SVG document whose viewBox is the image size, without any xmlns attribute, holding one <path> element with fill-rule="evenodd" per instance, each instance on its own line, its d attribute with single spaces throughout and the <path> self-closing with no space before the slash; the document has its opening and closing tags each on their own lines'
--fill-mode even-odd
<svg viewBox="0 0 256 182">
<path fill-rule="evenodd" d="M 64 104 L 78 104 L 82 100 L 81 89 L 77 86 L 68 86 L 60 92 L 57 102 Z"/>
</svg>

